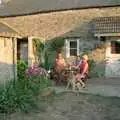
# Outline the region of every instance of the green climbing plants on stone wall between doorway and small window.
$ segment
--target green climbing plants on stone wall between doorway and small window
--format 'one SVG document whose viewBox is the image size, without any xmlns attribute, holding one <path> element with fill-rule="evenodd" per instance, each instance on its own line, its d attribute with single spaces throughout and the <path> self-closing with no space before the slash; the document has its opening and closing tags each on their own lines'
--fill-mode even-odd
<svg viewBox="0 0 120 120">
<path fill-rule="evenodd" d="M 55 38 L 43 42 L 39 38 L 33 38 L 33 50 L 36 62 L 45 69 L 50 69 L 54 66 L 54 59 L 57 52 L 63 52 L 64 39 Z"/>
</svg>

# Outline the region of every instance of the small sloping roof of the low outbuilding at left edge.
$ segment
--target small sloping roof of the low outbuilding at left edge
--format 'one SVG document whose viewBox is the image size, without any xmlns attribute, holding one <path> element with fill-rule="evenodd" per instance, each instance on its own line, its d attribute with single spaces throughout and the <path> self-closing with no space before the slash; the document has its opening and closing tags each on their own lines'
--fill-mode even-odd
<svg viewBox="0 0 120 120">
<path fill-rule="evenodd" d="M 0 22 L 0 36 L 4 37 L 19 37 L 20 33 L 4 22 Z"/>
</svg>

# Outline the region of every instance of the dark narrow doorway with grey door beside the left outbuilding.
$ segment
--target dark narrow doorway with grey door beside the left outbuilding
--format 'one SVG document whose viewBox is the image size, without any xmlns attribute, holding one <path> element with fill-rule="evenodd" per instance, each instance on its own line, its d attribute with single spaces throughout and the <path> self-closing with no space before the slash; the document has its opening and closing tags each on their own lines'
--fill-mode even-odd
<svg viewBox="0 0 120 120">
<path fill-rule="evenodd" d="M 28 38 L 17 39 L 17 60 L 28 60 Z"/>
</svg>

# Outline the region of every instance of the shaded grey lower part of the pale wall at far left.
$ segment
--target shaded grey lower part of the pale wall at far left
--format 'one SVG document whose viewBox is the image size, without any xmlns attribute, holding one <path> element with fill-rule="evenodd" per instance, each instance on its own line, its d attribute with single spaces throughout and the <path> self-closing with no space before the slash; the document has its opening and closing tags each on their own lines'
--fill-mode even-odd
<svg viewBox="0 0 120 120">
<path fill-rule="evenodd" d="M 14 65 L 0 62 L 0 83 L 14 78 Z"/>
</svg>

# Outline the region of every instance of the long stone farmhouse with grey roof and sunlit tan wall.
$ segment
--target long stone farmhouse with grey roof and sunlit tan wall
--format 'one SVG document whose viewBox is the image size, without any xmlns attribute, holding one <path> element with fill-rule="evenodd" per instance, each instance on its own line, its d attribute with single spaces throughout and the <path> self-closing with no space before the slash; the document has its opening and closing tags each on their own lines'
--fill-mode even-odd
<svg viewBox="0 0 120 120">
<path fill-rule="evenodd" d="M 89 51 L 101 76 L 120 77 L 120 2 L 116 0 L 1 0 L 0 79 L 16 62 L 34 63 L 33 38 L 64 39 L 67 59 Z"/>
</svg>

